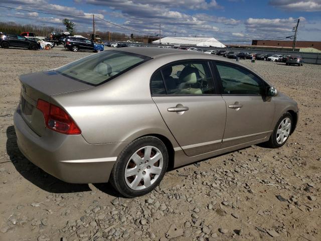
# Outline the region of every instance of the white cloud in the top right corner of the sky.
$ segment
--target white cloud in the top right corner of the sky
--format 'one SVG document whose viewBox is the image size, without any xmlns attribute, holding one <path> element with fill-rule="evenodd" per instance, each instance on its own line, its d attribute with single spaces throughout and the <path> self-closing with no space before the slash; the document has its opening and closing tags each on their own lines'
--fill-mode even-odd
<svg viewBox="0 0 321 241">
<path fill-rule="evenodd" d="M 321 0 L 270 0 L 269 5 L 286 11 L 320 12 Z"/>
</svg>

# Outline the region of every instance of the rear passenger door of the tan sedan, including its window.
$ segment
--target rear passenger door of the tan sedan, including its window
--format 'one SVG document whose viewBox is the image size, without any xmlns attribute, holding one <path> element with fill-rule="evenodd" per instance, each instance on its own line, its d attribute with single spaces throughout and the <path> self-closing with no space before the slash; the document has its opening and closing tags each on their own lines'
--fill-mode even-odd
<svg viewBox="0 0 321 241">
<path fill-rule="evenodd" d="M 208 61 L 166 65 L 153 74 L 150 84 L 153 101 L 186 155 L 220 149 L 226 105 L 214 88 Z"/>
</svg>

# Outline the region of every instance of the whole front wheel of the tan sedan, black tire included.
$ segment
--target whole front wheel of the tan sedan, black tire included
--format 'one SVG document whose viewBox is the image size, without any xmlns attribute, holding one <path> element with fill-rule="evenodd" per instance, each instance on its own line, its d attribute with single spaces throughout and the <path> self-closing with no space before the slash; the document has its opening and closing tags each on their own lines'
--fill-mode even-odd
<svg viewBox="0 0 321 241">
<path fill-rule="evenodd" d="M 287 127 L 287 124 L 290 124 L 289 127 Z M 266 142 L 266 145 L 270 148 L 282 147 L 290 137 L 292 127 L 292 115 L 289 112 L 285 112 L 276 123 L 276 126 L 270 136 L 270 139 Z M 285 140 L 282 138 L 282 136 L 285 138 Z"/>
</svg>

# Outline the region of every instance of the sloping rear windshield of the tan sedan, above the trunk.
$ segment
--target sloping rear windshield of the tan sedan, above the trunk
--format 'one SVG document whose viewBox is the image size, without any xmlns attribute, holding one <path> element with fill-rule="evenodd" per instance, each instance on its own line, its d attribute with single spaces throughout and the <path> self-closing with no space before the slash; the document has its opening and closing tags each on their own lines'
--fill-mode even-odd
<svg viewBox="0 0 321 241">
<path fill-rule="evenodd" d="M 143 55 L 108 50 L 64 65 L 56 71 L 80 82 L 97 86 L 149 59 Z"/>
</svg>

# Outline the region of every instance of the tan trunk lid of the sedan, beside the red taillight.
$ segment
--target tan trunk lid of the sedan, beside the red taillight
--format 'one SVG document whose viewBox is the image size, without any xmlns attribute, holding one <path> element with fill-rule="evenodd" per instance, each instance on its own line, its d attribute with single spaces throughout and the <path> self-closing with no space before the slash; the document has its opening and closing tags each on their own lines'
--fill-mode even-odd
<svg viewBox="0 0 321 241">
<path fill-rule="evenodd" d="M 68 78 L 55 71 L 20 76 L 21 114 L 27 125 L 39 136 L 46 130 L 43 113 L 37 109 L 38 99 L 50 102 L 50 96 L 93 88 L 94 86 Z"/>
</svg>

